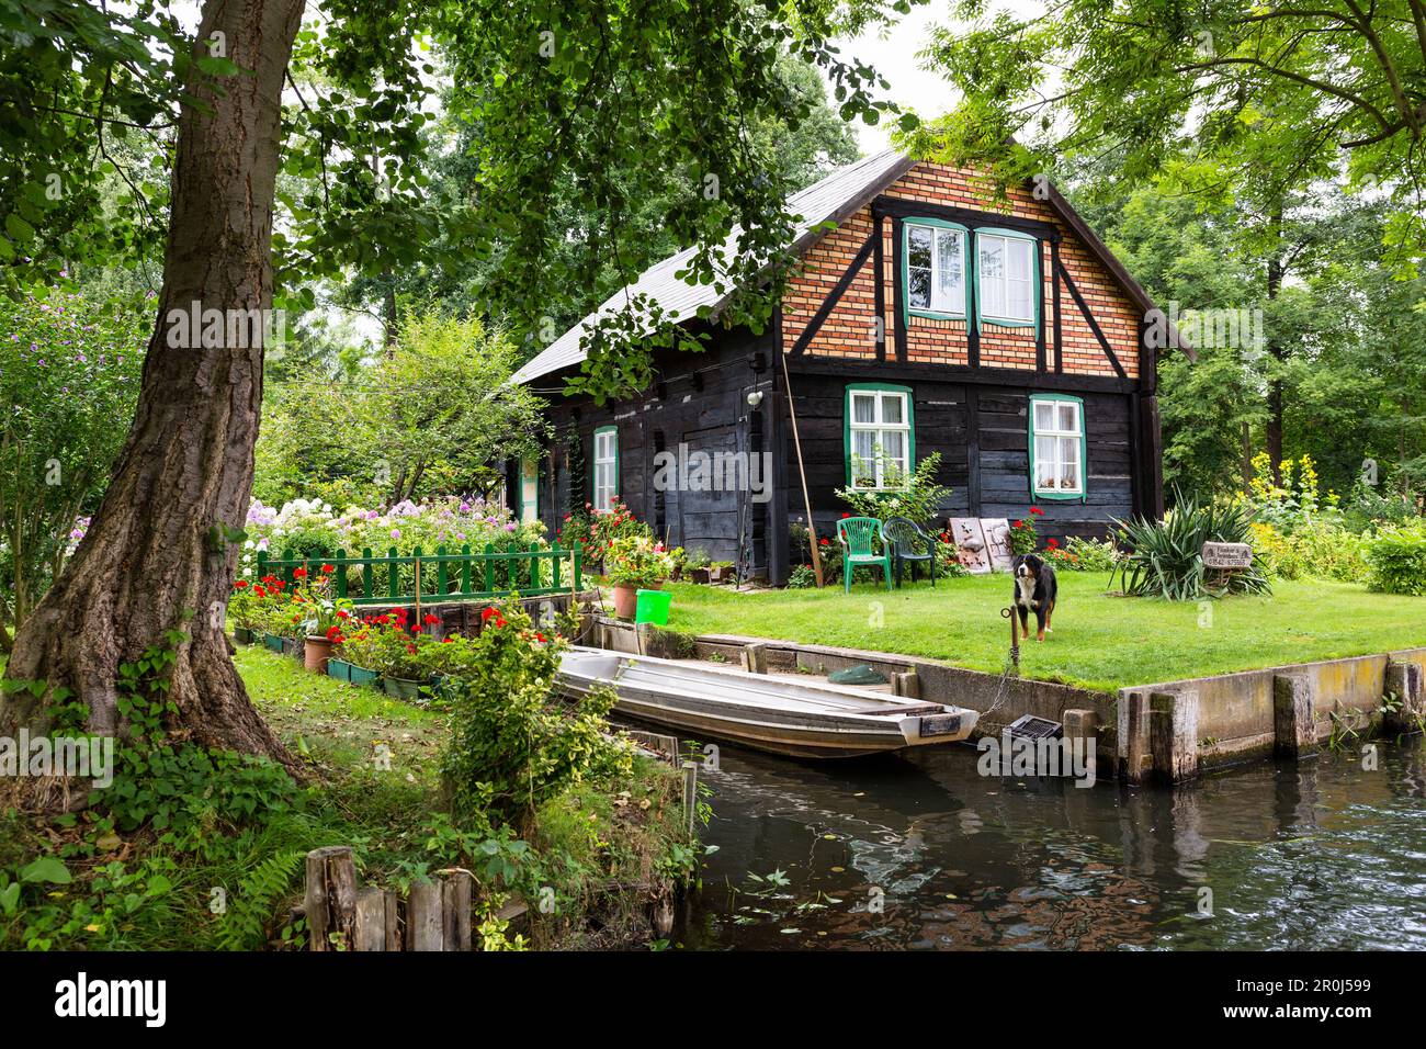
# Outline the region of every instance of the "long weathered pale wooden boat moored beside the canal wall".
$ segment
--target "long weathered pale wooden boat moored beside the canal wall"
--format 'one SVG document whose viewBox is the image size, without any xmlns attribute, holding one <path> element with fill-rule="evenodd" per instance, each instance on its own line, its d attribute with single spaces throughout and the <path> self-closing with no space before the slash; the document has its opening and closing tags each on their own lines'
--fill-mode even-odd
<svg viewBox="0 0 1426 1049">
<path fill-rule="evenodd" d="M 980 716 L 823 682 L 787 681 L 709 664 L 576 647 L 560 662 L 556 689 L 580 699 L 613 685 L 629 718 L 796 758 L 854 758 L 965 739 Z"/>
</svg>

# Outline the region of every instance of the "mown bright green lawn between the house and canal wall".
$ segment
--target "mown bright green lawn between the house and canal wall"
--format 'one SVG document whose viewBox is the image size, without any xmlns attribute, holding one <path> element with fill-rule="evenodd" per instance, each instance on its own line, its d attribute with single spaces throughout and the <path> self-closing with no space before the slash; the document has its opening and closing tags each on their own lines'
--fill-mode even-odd
<svg viewBox="0 0 1426 1049">
<path fill-rule="evenodd" d="M 1098 691 L 1426 645 L 1426 598 L 1358 584 L 1278 582 L 1271 598 L 1204 605 L 1105 592 L 1107 575 L 1064 572 L 1054 631 L 1021 649 L 1021 672 Z M 669 628 L 923 655 L 1000 671 L 1010 628 L 1008 575 L 938 579 L 887 592 L 857 584 L 734 592 L 673 585 Z M 1202 619 L 1202 625 L 1201 625 Z M 1034 627 L 1034 621 L 1031 621 Z"/>
</svg>

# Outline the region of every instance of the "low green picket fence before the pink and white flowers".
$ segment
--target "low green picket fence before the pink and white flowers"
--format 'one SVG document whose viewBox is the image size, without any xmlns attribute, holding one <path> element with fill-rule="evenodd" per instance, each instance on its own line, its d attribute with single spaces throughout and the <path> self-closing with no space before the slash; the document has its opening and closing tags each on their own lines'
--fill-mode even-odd
<svg viewBox="0 0 1426 1049">
<path fill-rule="evenodd" d="M 481 601 L 512 594 L 539 597 L 580 588 L 583 551 L 576 542 L 562 548 L 558 542 L 545 549 L 515 544 L 496 549 L 486 544 L 483 551 L 471 552 L 469 544 L 458 552 L 436 547 L 435 554 L 416 547 L 409 554 L 398 554 L 392 547 L 386 554 L 374 555 L 365 548 L 361 557 L 348 557 L 345 549 L 335 554 L 297 555 L 291 549 L 270 558 L 258 551 L 257 578 L 277 575 L 292 584 L 298 568 L 317 574 L 331 565 L 337 597 L 349 598 L 356 605 L 395 605 L 421 601 Z"/>
</svg>

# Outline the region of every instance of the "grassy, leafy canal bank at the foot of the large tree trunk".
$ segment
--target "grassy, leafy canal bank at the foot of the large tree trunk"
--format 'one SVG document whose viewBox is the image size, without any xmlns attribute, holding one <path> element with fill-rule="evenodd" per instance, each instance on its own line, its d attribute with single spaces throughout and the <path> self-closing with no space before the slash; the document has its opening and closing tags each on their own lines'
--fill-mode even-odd
<svg viewBox="0 0 1426 1049">
<path fill-rule="evenodd" d="M 321 845 L 354 846 L 368 885 L 473 869 L 488 948 L 519 945 L 493 919 L 511 892 L 552 903 L 529 915 L 532 946 L 627 946 L 652 939 L 650 901 L 696 869 L 682 781 L 660 762 L 639 758 L 629 782 L 565 791 L 520 838 L 471 841 L 442 818 L 445 714 L 258 648 L 240 649 L 237 664 L 309 784 L 271 766 L 183 765 L 145 781 L 171 804 L 101 792 L 93 809 L 36 819 L 0 802 L 0 948 L 299 948 L 304 932 L 287 928 L 284 939 L 285 919 L 301 899 L 301 858 Z M 123 814 L 138 809 L 147 818 L 127 826 Z"/>
</svg>

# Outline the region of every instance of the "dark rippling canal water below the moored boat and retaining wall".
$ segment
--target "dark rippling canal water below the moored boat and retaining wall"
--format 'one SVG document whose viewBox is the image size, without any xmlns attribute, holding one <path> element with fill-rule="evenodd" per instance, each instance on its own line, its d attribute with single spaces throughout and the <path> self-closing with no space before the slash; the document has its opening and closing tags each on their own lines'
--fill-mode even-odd
<svg viewBox="0 0 1426 1049">
<path fill-rule="evenodd" d="M 683 949 L 1426 949 L 1426 746 L 1181 791 L 723 746 Z"/>
</svg>

